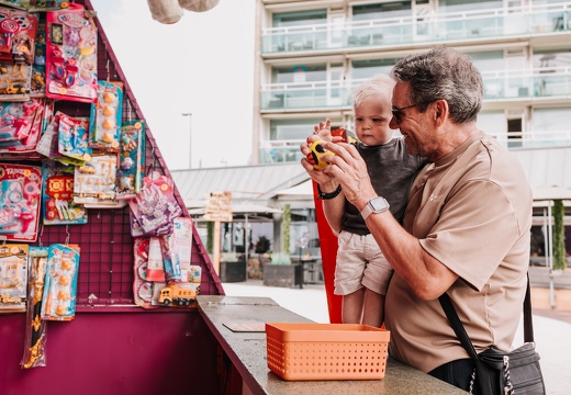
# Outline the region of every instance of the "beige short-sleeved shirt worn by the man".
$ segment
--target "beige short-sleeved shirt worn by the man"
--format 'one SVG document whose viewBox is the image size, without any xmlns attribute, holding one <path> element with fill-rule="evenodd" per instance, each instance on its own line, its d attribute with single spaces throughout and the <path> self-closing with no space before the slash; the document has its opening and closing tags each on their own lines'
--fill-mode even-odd
<svg viewBox="0 0 571 395">
<path fill-rule="evenodd" d="M 459 279 L 447 291 L 477 352 L 508 350 L 529 263 L 531 190 L 517 159 L 480 134 L 416 178 L 404 228 Z M 422 301 L 395 272 L 385 325 L 390 354 L 424 372 L 469 358 L 438 302 Z"/>
</svg>

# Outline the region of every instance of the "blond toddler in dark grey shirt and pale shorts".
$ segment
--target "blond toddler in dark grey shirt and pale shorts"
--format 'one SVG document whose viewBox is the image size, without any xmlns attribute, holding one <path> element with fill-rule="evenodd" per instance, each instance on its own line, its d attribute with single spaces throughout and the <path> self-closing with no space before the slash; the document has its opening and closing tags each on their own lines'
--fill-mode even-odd
<svg viewBox="0 0 571 395">
<path fill-rule="evenodd" d="M 355 145 L 367 163 L 376 192 L 387 199 L 391 213 L 401 222 L 414 177 L 426 160 L 408 155 L 404 139 L 392 136 L 389 123 L 393 116 L 393 87 L 389 77 L 379 76 L 354 92 L 358 138 Z M 331 136 L 329 120 L 315 126 L 314 134 L 320 139 L 336 140 Z M 320 198 L 324 201 L 325 217 L 338 236 L 334 292 L 343 295 L 343 323 L 381 327 L 384 295 L 393 269 L 367 228 L 361 213 L 345 200 L 335 180 L 320 182 Z"/>
</svg>

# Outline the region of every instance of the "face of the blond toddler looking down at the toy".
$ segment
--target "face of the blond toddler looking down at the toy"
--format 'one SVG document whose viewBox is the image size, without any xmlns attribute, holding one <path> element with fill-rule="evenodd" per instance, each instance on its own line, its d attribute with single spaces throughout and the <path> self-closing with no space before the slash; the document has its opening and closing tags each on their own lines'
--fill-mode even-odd
<svg viewBox="0 0 571 395">
<path fill-rule="evenodd" d="M 391 139 L 389 127 L 392 119 L 391 103 L 384 99 L 369 100 L 355 108 L 355 133 L 369 146 L 381 145 Z"/>
</svg>

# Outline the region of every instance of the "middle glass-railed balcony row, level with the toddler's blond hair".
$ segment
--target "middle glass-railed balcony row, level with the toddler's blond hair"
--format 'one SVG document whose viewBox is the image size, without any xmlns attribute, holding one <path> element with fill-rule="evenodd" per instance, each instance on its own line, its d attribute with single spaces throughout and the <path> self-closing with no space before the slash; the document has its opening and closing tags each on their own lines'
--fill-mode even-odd
<svg viewBox="0 0 571 395">
<path fill-rule="evenodd" d="M 569 100 L 571 67 L 483 71 L 484 102 Z M 260 91 L 265 113 L 350 110 L 351 92 L 365 80 L 268 83 Z"/>
</svg>

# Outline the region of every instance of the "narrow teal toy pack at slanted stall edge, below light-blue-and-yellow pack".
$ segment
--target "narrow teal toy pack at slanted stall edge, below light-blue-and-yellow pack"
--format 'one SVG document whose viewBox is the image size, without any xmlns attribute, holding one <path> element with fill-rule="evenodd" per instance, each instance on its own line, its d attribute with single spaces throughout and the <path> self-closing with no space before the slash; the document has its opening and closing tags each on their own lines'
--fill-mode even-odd
<svg viewBox="0 0 571 395">
<path fill-rule="evenodd" d="M 130 121 L 121 127 L 117 199 L 133 199 L 143 187 L 145 173 L 145 121 Z"/>
</svg>

